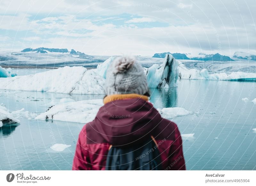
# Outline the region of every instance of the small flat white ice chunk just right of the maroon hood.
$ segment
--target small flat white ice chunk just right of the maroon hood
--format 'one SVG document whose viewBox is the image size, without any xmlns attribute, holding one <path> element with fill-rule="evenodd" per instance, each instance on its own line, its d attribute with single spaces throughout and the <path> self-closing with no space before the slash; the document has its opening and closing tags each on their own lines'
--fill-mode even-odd
<svg viewBox="0 0 256 186">
<path fill-rule="evenodd" d="M 161 116 L 166 119 L 174 118 L 176 116 L 185 116 L 192 113 L 181 107 L 170 107 L 157 110 Z"/>
</svg>

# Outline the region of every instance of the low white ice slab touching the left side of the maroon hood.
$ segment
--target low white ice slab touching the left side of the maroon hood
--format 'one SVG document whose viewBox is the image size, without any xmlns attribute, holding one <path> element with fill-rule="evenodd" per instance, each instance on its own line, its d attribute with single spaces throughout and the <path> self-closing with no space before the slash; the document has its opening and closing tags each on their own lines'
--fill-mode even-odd
<svg viewBox="0 0 256 186">
<path fill-rule="evenodd" d="M 48 111 L 41 113 L 35 119 L 88 123 L 94 120 L 99 108 L 103 105 L 102 99 L 83 100 L 61 103 L 52 106 Z"/>
</svg>

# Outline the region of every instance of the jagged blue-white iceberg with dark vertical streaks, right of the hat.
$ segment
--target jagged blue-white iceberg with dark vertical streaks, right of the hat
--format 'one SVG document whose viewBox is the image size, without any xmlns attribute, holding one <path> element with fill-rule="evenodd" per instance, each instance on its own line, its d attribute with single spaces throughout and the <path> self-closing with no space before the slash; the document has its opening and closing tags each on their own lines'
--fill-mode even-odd
<svg viewBox="0 0 256 186">
<path fill-rule="evenodd" d="M 177 86 L 179 77 L 179 62 L 171 54 L 166 54 L 164 63 L 159 68 L 157 64 L 146 71 L 149 88 L 170 88 Z M 159 69 L 158 69 L 159 68 Z"/>
</svg>

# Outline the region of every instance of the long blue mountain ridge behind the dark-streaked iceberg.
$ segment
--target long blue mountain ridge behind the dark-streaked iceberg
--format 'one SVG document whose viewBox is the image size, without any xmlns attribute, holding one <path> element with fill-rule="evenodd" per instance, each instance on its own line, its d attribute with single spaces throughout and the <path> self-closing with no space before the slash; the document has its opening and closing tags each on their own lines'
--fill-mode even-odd
<svg viewBox="0 0 256 186">
<path fill-rule="evenodd" d="M 235 61 L 228 56 L 220 55 L 219 53 L 216 54 L 204 54 L 199 53 L 198 57 L 190 57 L 190 54 L 181 54 L 181 53 L 156 53 L 154 54 L 153 58 L 164 58 L 166 54 L 172 54 L 175 59 L 190 59 L 190 60 L 198 60 L 198 61 Z M 189 57 L 188 57 L 189 56 Z"/>
</svg>

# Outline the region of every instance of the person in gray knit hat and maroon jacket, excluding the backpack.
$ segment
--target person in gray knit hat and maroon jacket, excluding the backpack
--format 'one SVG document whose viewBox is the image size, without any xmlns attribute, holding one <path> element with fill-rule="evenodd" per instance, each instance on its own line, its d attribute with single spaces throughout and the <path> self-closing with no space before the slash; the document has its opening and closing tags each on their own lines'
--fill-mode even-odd
<svg viewBox="0 0 256 186">
<path fill-rule="evenodd" d="M 133 56 L 116 57 L 107 69 L 104 105 L 82 128 L 72 170 L 106 170 L 112 146 L 133 145 L 153 136 L 164 170 L 185 170 L 177 125 L 149 102 L 146 73 Z"/>
</svg>

